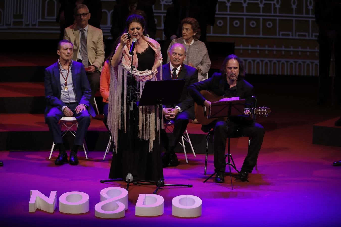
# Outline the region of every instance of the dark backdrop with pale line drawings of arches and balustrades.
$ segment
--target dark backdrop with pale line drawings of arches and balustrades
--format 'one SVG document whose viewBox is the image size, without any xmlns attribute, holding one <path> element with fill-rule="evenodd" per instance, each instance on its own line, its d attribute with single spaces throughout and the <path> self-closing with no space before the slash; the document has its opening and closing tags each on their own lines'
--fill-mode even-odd
<svg viewBox="0 0 341 227">
<path fill-rule="evenodd" d="M 102 0 L 102 23 L 110 38 L 114 0 Z M 157 38 L 172 0 L 154 7 Z M 0 0 L 1 39 L 58 38 L 58 0 Z M 207 39 L 233 42 L 250 74 L 317 75 L 318 27 L 313 0 L 219 0 Z"/>
</svg>

